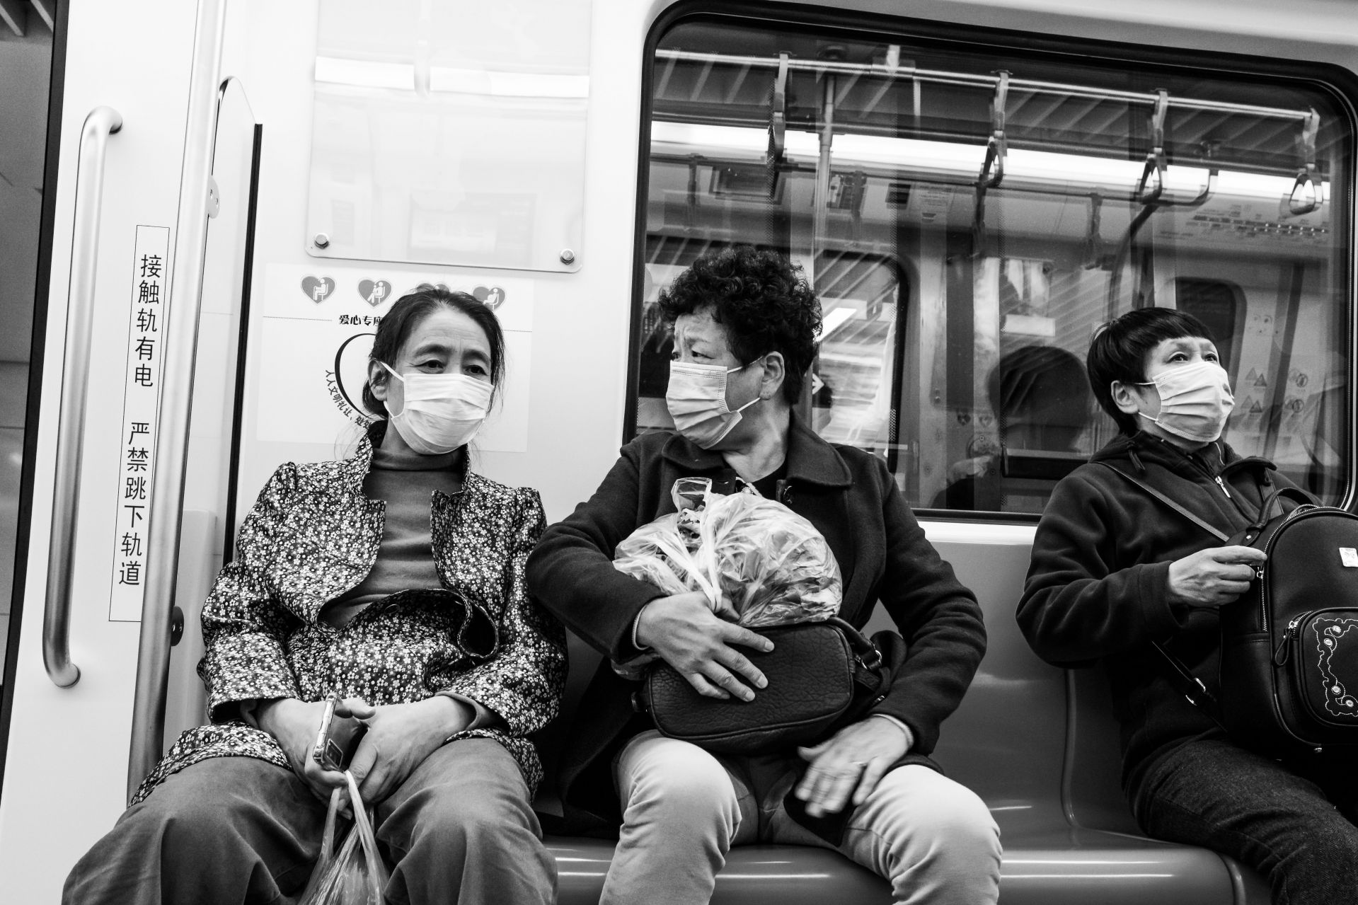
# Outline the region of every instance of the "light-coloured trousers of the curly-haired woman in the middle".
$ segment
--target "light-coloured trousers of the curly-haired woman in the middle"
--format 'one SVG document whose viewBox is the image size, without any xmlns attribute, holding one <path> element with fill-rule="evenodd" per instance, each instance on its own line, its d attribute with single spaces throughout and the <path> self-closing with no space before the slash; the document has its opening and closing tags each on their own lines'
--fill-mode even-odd
<svg viewBox="0 0 1358 905">
<path fill-rule="evenodd" d="M 708 902 L 732 845 L 830 848 L 782 809 L 794 766 L 789 757 L 714 757 L 655 730 L 633 738 L 614 765 L 623 825 L 602 905 Z M 999 897 L 999 828 L 975 792 L 928 766 L 887 773 L 837 851 L 887 878 L 896 902 Z"/>
</svg>

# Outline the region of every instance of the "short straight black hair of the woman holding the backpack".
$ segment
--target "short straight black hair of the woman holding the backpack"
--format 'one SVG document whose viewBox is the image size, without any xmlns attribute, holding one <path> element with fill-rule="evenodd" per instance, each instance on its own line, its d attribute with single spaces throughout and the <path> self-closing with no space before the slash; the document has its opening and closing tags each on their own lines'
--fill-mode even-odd
<svg viewBox="0 0 1358 905">
<path fill-rule="evenodd" d="M 1215 340 L 1202 321 L 1176 308 L 1134 308 L 1108 321 L 1095 332 L 1085 368 L 1089 386 L 1103 410 L 1112 416 L 1123 433 L 1141 429 L 1135 416 L 1112 401 L 1112 382 L 1145 383 L 1146 353 L 1165 340 L 1202 337 Z"/>
</svg>

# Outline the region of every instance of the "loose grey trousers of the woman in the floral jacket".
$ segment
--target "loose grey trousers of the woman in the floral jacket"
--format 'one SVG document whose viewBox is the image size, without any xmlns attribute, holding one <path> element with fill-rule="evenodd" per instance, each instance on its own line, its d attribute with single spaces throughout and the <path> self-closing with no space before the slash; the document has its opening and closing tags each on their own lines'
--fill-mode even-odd
<svg viewBox="0 0 1358 905">
<path fill-rule="evenodd" d="M 217 757 L 128 809 L 71 871 L 69 905 L 284 904 L 316 862 L 326 802 L 291 770 Z M 376 809 L 386 900 L 547 904 L 555 862 L 513 757 L 492 739 L 444 745 Z"/>
</svg>

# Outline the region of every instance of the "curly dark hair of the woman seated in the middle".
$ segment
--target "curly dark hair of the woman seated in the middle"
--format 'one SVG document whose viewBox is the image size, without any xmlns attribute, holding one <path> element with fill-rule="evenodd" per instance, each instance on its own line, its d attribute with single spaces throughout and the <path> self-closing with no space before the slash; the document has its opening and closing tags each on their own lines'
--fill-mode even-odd
<svg viewBox="0 0 1358 905">
<path fill-rule="evenodd" d="M 820 300 L 801 268 L 774 251 L 748 245 L 709 251 L 660 294 L 671 326 L 680 314 L 710 308 L 741 364 L 779 352 L 786 361 L 782 395 L 796 404 L 816 357 Z"/>
</svg>

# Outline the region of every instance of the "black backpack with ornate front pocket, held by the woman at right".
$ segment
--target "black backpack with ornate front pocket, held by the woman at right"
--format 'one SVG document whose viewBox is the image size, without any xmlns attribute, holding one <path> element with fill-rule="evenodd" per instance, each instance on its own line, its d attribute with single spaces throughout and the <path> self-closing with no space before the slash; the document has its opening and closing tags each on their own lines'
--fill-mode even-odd
<svg viewBox="0 0 1358 905">
<path fill-rule="evenodd" d="M 1184 696 L 1237 743 L 1266 754 L 1358 745 L 1358 515 L 1283 488 L 1268 496 L 1253 525 L 1228 537 L 1108 467 L 1224 546 L 1252 546 L 1268 557 L 1249 590 L 1219 609 L 1219 701 L 1156 644 Z M 1297 505 L 1285 512 L 1289 499 Z"/>
</svg>

